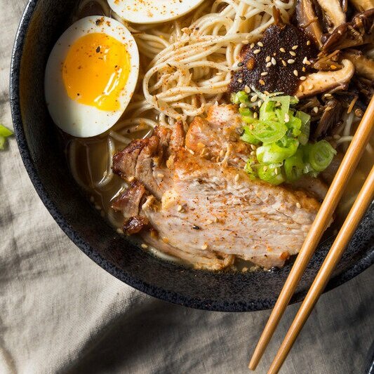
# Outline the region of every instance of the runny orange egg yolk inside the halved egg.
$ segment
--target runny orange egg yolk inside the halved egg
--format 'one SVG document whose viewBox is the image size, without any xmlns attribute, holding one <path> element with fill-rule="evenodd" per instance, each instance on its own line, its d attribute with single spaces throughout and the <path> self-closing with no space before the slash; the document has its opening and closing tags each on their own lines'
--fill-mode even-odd
<svg viewBox="0 0 374 374">
<path fill-rule="evenodd" d="M 67 95 L 100 110 L 120 109 L 119 95 L 126 86 L 131 59 L 126 46 L 107 34 L 77 39 L 62 65 Z"/>
</svg>

